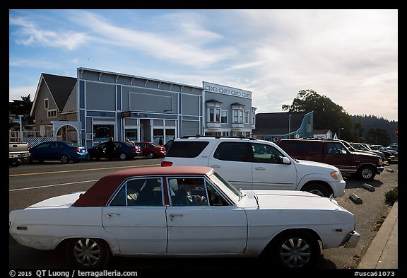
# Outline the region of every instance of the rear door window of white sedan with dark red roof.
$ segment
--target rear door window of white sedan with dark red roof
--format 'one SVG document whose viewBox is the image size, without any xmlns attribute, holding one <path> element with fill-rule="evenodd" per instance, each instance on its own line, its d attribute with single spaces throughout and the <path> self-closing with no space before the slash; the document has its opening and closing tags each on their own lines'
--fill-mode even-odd
<svg viewBox="0 0 407 278">
<path fill-rule="evenodd" d="M 161 207 L 163 191 L 161 178 L 139 178 L 127 180 L 110 206 Z"/>
</svg>

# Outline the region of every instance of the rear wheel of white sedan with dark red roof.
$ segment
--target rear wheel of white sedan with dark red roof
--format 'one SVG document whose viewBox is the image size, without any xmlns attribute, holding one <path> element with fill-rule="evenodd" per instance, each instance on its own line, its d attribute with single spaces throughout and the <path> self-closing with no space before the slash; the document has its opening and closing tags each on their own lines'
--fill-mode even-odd
<svg viewBox="0 0 407 278">
<path fill-rule="evenodd" d="M 110 250 L 98 238 L 73 238 L 66 245 L 66 256 L 75 268 L 102 269 L 107 265 Z"/>
</svg>

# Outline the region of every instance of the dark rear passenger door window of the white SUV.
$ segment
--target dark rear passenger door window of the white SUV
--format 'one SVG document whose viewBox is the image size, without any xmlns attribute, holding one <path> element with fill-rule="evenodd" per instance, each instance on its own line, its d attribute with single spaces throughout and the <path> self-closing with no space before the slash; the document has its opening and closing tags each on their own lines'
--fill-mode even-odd
<svg viewBox="0 0 407 278">
<path fill-rule="evenodd" d="M 252 146 L 247 142 L 222 142 L 216 148 L 213 157 L 221 161 L 252 162 Z"/>
</svg>

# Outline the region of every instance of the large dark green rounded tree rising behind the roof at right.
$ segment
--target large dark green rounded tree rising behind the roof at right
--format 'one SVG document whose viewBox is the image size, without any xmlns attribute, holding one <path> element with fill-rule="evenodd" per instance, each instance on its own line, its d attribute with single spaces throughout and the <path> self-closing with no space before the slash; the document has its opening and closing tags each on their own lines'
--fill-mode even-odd
<svg viewBox="0 0 407 278">
<path fill-rule="evenodd" d="M 350 120 L 350 115 L 341 105 L 335 104 L 330 98 L 319 95 L 313 90 L 300 91 L 294 98 L 293 104 L 283 105 L 282 109 L 289 112 L 314 111 L 314 129 L 330 129 L 336 134 L 341 130 L 341 139 L 354 141 L 353 122 Z"/>
</svg>

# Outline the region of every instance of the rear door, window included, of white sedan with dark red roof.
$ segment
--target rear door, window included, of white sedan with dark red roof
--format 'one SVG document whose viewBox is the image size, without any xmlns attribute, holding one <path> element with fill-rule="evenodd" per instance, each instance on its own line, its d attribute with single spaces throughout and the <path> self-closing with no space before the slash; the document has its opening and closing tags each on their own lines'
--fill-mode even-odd
<svg viewBox="0 0 407 278">
<path fill-rule="evenodd" d="M 127 180 L 107 207 L 102 224 L 124 254 L 165 254 L 167 220 L 162 178 Z"/>
</svg>

